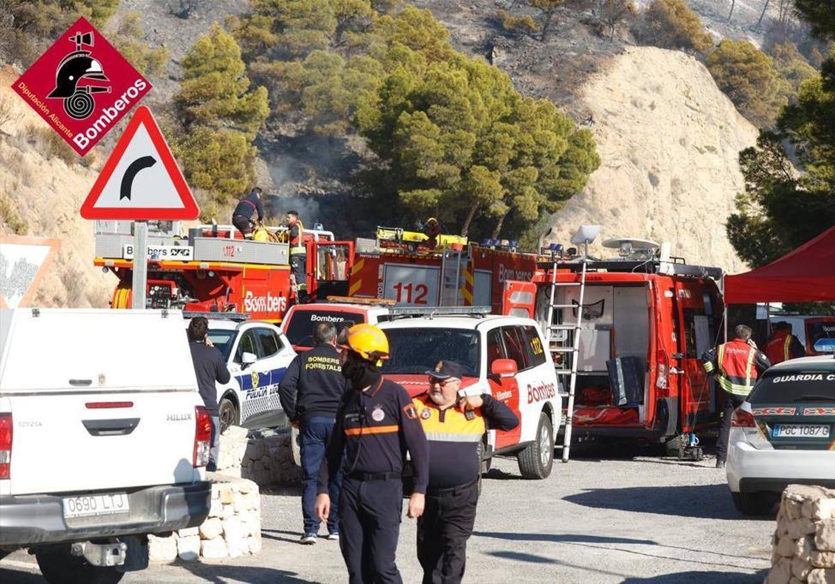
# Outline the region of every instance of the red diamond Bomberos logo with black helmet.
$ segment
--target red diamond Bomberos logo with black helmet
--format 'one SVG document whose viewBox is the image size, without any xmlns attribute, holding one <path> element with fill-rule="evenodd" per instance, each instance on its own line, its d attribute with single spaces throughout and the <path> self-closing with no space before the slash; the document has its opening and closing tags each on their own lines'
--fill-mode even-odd
<svg viewBox="0 0 835 584">
<path fill-rule="evenodd" d="M 139 103 L 151 84 L 82 17 L 13 88 L 83 156 Z"/>
</svg>

